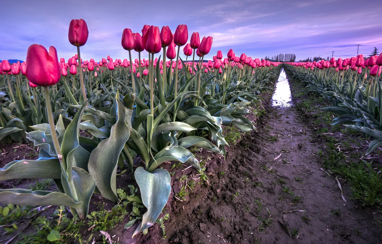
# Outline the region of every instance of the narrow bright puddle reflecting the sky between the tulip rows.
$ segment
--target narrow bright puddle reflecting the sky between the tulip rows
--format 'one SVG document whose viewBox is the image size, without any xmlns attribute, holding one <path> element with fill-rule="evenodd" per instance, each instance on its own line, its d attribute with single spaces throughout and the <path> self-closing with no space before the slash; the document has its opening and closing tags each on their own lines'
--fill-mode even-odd
<svg viewBox="0 0 382 244">
<path fill-rule="evenodd" d="M 292 105 L 292 95 L 290 93 L 289 81 L 286 78 L 284 69 L 281 69 L 280 76 L 276 82 L 276 89 L 272 96 L 272 106 L 290 107 Z"/>
</svg>

